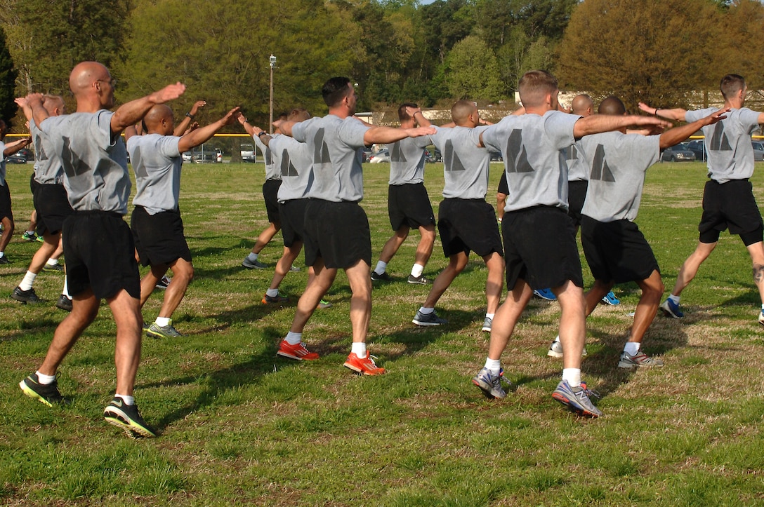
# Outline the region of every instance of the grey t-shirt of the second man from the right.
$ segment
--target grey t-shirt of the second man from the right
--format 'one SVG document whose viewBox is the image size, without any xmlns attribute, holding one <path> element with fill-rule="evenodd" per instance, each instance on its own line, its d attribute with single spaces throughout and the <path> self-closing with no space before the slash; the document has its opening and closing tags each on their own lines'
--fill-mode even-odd
<svg viewBox="0 0 764 507">
<path fill-rule="evenodd" d="M 661 136 L 606 132 L 578 142 L 590 169 L 581 214 L 600 222 L 636 219 L 647 168 L 660 159 Z"/>
</svg>

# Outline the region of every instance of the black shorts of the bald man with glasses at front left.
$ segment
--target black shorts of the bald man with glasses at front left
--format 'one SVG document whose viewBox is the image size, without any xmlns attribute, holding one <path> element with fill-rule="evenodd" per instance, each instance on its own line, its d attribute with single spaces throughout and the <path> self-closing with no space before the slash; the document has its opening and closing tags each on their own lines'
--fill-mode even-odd
<svg viewBox="0 0 764 507">
<path fill-rule="evenodd" d="M 88 287 L 99 299 L 122 289 L 141 297 L 130 227 L 118 213 L 79 211 L 66 217 L 61 230 L 66 257 L 66 284 L 73 296 Z"/>
</svg>

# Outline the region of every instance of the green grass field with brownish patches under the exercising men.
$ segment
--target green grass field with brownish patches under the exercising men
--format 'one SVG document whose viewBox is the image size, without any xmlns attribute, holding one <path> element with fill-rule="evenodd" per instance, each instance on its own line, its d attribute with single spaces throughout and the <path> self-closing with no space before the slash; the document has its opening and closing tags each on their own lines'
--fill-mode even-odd
<svg viewBox="0 0 764 507">
<path fill-rule="evenodd" d="M 374 262 L 390 235 L 388 165 L 365 167 Z M 500 165 L 491 175 L 496 188 Z M 761 190 L 764 166 L 753 185 Z M 405 283 L 416 238 L 375 285 L 369 342 L 388 374 L 356 377 L 343 274 L 303 335 L 319 361 L 275 355 L 306 270 L 289 274 L 284 306 L 260 303 L 272 269 L 241 268 L 265 222 L 262 165 L 189 165 L 181 210 L 196 279 L 173 323 L 182 339 L 146 339 L 136 397 L 159 438 L 130 441 L 102 419 L 115 385 L 115 326 L 107 306 L 60 368 L 73 404 L 47 408 L 18 382 L 44 357 L 63 313 L 62 275 L 40 274 L 46 302 L 7 297 L 35 244 L 21 242 L 31 211 L 31 165 L 8 166 L 17 235 L 0 268 L 0 502 L 6 505 L 762 505 L 764 385 L 759 296 L 749 257 L 725 234 L 685 290 L 685 319 L 656 317 L 644 348 L 665 367 L 616 367 L 636 285 L 588 321 L 584 380 L 604 417 L 581 419 L 550 396 L 562 361 L 546 356 L 558 306 L 533 300 L 503 356 L 513 392 L 487 400 L 470 378 L 482 367 L 487 271 L 470 265 L 439 303 L 451 322 L 411 323 L 427 287 Z M 442 167 L 426 185 L 440 201 Z M 663 163 L 648 173 L 637 219 L 667 290 L 694 249 L 704 165 Z M 493 202 L 494 195 L 489 194 Z M 274 265 L 280 236 L 261 261 Z M 299 258 L 302 261 L 302 256 Z M 439 242 L 425 274 L 445 266 Z M 591 276 L 584 268 L 584 280 Z M 144 308 L 153 320 L 161 294 Z"/>
</svg>

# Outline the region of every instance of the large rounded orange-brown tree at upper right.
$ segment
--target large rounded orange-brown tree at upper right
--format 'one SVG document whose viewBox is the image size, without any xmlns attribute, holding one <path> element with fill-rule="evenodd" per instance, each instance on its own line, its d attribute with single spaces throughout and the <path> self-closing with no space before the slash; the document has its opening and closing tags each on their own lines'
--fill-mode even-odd
<svg viewBox="0 0 764 507">
<path fill-rule="evenodd" d="M 561 86 L 619 95 L 633 110 L 682 104 L 718 82 L 722 15 L 708 0 L 587 0 L 561 43 Z"/>
</svg>

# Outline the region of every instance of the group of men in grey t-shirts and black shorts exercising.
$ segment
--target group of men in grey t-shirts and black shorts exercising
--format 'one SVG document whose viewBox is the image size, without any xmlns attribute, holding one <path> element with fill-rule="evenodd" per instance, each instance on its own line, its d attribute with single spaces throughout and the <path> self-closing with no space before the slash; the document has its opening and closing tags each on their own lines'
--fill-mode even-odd
<svg viewBox="0 0 764 507">
<path fill-rule="evenodd" d="M 484 367 L 472 382 L 488 396 L 506 396 L 501 355 L 534 289 L 549 287 L 561 310 L 558 337 L 549 355 L 562 356 L 563 361 L 562 380 L 552 397 L 584 416 L 601 416 L 581 381 L 586 316 L 613 284 L 636 282 L 642 294 L 618 366 L 659 366 L 659 358 L 640 350 L 646 329 L 659 307 L 681 317 L 681 290 L 714 249 L 719 232 L 727 228 L 740 234 L 753 259 L 754 281 L 762 293 L 759 322 L 764 323 L 762 220 L 747 181 L 753 172 L 750 135 L 764 124 L 764 114 L 743 107 L 746 85 L 740 76 L 727 75 L 722 80 L 725 104 L 720 110 L 664 110 L 640 104 L 649 115 L 630 115 L 618 98 L 610 97 L 599 104 L 599 114 L 581 115 L 561 111 L 553 75 L 531 71 L 518 86 L 523 107 L 497 124 L 481 120 L 474 102 L 458 101 L 452 108 L 452 124 L 441 127 L 432 126 L 416 104 L 402 104 L 398 128 L 372 126 L 354 117 L 358 95 L 350 79 L 338 77 L 322 88 L 329 114 L 311 117 L 308 111 L 295 108 L 274 122 L 274 134 L 251 125 L 238 107 L 206 127 L 189 125 L 194 111 L 176 125 L 166 103 L 183 94 L 181 83 L 123 104 L 112 113 L 108 110 L 114 105 L 114 85 L 108 69 L 84 62 L 70 75 L 75 113 L 57 114 L 63 106 L 57 109 L 56 98 L 40 94 L 20 101 L 35 143 L 40 143 L 48 158 L 58 157 L 54 165 L 60 172 L 53 181 L 40 181 L 45 190 L 35 191 L 35 205 L 38 192 L 57 196 L 40 201 L 61 204 L 65 198 L 69 211 L 55 212 L 64 214 L 63 220 L 47 225 L 47 214 L 55 213 L 42 205 L 37 213 L 46 224 L 46 244 L 48 236 L 51 245 L 55 235 L 63 236 L 66 290 L 72 298 L 71 312 L 57 327 L 43 363 L 20 387 L 47 405 L 66 403 L 57 387 L 57 368 L 95 319 L 99 301 L 105 299 L 117 326 L 117 386 L 104 417 L 131 437 L 155 435 L 133 397 L 141 351 L 141 306 L 160 278 L 172 270 L 173 281 L 159 317 L 144 329 L 154 336 L 180 335 L 171 316 L 193 277 L 178 207 L 181 153 L 237 121 L 264 147 L 270 166 L 264 194 L 274 231 L 264 234 L 273 237 L 280 229 L 283 235 L 283 255 L 263 302 L 284 300 L 279 284 L 303 247 L 309 267 L 290 330 L 278 347 L 277 355 L 282 357 L 319 358 L 303 342 L 303 329 L 312 313 L 325 305 L 323 297 L 342 269 L 352 293 L 352 343 L 344 366 L 357 374 L 384 374 L 366 346 L 372 283 L 389 278 L 387 262 L 412 228 L 419 229 L 421 238 L 407 281 L 431 283 L 422 274 L 435 240 L 435 217 L 423 185 L 424 147 L 431 143 L 444 159 L 444 200 L 437 227 L 449 261 L 432 281 L 413 322 L 445 325 L 448 321 L 435 313 L 435 304 L 465 268 L 470 252 L 480 255 L 488 271 L 482 329 L 490 332 L 490 345 Z M 688 123 L 665 130 L 671 124 L 661 118 Z M 627 128 L 641 131 L 627 133 Z M 713 142 L 707 143 L 711 181 L 704 194 L 700 242 L 682 266 L 672 295 L 661 305 L 664 289 L 659 266 L 633 220 L 646 169 L 659 160 L 660 150 L 701 129 Z M 394 232 L 372 270 L 369 223 L 358 203 L 364 195 L 361 150 L 375 143 L 390 147 L 388 211 Z M 128 152 L 137 186 L 130 227 L 123 219 L 131 191 Z M 501 153 L 507 181 L 501 235 L 494 208 L 485 201 L 490 152 Z M 578 165 L 577 174 L 588 179 L 583 194 L 581 185 L 571 185 L 569 197 L 568 173 L 575 172 L 569 165 Z M 53 186 L 58 188 L 48 188 Z M 578 187 L 575 198 L 574 186 Z M 578 205 L 571 210 L 569 201 Z M 579 226 L 595 279 L 585 294 L 575 239 Z M 246 267 L 258 267 L 254 249 L 253 254 L 254 260 L 248 258 L 252 266 Z M 143 280 L 138 262 L 151 266 Z M 507 297 L 500 303 L 504 281 Z"/>
</svg>

